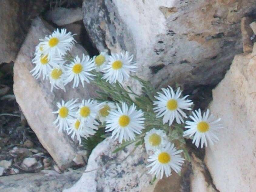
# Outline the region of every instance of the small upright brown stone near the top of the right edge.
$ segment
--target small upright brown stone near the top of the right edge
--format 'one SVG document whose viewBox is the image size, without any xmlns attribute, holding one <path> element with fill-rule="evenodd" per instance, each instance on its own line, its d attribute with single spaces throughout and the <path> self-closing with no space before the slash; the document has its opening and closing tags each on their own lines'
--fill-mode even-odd
<svg viewBox="0 0 256 192">
<path fill-rule="evenodd" d="M 249 17 L 243 17 L 241 19 L 241 31 L 243 38 L 243 50 L 244 53 L 251 53 L 253 44 L 251 41 L 251 36 L 253 35 L 253 31 L 250 27 L 251 19 Z"/>
</svg>

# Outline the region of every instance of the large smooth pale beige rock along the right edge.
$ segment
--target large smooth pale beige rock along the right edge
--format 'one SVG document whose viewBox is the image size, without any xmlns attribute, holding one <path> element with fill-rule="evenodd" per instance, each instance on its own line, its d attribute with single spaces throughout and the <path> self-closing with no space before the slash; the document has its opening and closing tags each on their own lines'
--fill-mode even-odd
<svg viewBox="0 0 256 192">
<path fill-rule="evenodd" d="M 218 190 L 256 188 L 256 57 L 236 55 L 230 70 L 213 90 L 211 112 L 222 118 L 219 142 L 206 148 L 205 163 Z"/>
</svg>

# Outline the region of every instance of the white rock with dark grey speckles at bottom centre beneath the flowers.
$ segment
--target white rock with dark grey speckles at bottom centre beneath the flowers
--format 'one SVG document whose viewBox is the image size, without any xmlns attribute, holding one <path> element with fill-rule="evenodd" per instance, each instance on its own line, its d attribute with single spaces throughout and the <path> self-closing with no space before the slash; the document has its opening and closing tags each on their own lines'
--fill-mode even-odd
<svg viewBox="0 0 256 192">
<path fill-rule="evenodd" d="M 134 145 L 131 144 L 113 154 L 112 152 L 119 146 L 120 144 L 111 138 L 106 138 L 98 144 L 93 149 L 80 180 L 63 192 L 160 192 L 171 187 L 173 191 L 181 189 L 187 166 L 184 166 L 181 176 L 173 173 L 171 177 L 150 184 L 153 176 L 148 174 L 146 168 L 148 155 L 145 148 L 140 146 L 133 151 Z"/>
</svg>

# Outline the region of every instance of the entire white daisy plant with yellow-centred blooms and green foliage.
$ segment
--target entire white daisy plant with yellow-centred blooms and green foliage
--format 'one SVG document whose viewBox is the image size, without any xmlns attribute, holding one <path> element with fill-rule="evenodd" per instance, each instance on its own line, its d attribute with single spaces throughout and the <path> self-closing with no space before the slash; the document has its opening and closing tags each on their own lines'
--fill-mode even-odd
<svg viewBox="0 0 256 192">
<path fill-rule="evenodd" d="M 157 92 L 150 82 L 132 75 L 137 66 L 129 52 L 74 57 L 69 51 L 75 40 L 66 29 L 57 29 L 40 41 L 31 73 L 35 78 L 49 78 L 51 91 L 53 88 L 65 91 L 67 84 L 75 89 L 80 83 L 84 87 L 85 82 L 101 90 L 96 91 L 98 98 L 61 100 L 56 104 L 53 123 L 79 144 L 82 138 L 88 139 L 104 129 L 106 134 L 102 137 L 110 136 L 121 144 L 113 153 L 132 143 L 135 147 L 145 146 L 149 173 L 162 178 L 169 177 L 171 170 L 179 173 L 184 160 L 190 161 L 185 138 L 192 138 L 192 143 L 201 148 L 207 147 L 207 142 L 218 141 L 220 118 L 214 118 L 208 109 L 203 114 L 198 109 L 190 115 L 193 102 L 189 95 L 182 95 L 180 88 L 175 91 L 168 86 Z M 141 95 L 125 86 L 124 81 L 129 78 L 142 85 Z M 190 121 L 184 121 L 187 116 Z"/>
</svg>

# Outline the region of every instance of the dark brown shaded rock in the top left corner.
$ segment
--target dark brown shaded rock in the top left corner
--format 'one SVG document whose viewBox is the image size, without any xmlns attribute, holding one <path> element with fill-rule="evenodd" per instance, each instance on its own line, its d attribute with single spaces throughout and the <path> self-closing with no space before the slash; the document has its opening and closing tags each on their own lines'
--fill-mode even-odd
<svg viewBox="0 0 256 192">
<path fill-rule="evenodd" d="M 43 1 L 0 1 L 0 64 L 14 61 L 22 41 L 25 39 L 31 18 L 43 11 Z"/>
</svg>

